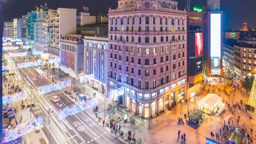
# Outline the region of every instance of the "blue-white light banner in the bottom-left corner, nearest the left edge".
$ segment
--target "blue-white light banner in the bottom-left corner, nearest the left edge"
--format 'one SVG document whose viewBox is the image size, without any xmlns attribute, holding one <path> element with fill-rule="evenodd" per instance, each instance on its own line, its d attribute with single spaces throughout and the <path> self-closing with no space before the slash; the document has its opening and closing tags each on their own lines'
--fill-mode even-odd
<svg viewBox="0 0 256 144">
<path fill-rule="evenodd" d="M 4 142 L 7 143 L 9 141 L 13 141 L 22 135 L 26 135 L 31 133 L 33 130 L 37 130 L 43 127 L 44 124 L 44 117 L 39 117 L 36 119 L 31 119 L 26 123 L 22 123 L 16 125 L 16 127 L 11 129 L 4 129 Z"/>
</svg>

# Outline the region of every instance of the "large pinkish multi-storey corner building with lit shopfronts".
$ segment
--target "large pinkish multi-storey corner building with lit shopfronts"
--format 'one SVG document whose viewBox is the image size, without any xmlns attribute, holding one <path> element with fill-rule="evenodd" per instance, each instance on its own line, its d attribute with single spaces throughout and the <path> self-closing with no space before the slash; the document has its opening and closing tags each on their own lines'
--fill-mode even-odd
<svg viewBox="0 0 256 144">
<path fill-rule="evenodd" d="M 141 117 L 187 100 L 187 13 L 178 2 L 118 1 L 109 16 L 108 93 Z"/>
</svg>

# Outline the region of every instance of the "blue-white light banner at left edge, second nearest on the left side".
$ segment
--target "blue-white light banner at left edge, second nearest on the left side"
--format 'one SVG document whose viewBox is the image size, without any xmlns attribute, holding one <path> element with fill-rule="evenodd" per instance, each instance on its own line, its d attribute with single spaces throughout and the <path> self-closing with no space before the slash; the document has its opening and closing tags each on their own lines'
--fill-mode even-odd
<svg viewBox="0 0 256 144">
<path fill-rule="evenodd" d="M 8 105 L 14 103 L 15 101 L 20 101 L 26 99 L 26 91 L 14 93 L 11 95 L 6 95 L 3 97 L 3 105 Z"/>
</svg>

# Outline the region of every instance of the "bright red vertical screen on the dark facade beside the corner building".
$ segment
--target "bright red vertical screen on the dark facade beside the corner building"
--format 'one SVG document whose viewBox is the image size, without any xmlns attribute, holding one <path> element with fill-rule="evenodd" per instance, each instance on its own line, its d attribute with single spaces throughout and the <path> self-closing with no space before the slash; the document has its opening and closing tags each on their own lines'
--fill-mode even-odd
<svg viewBox="0 0 256 144">
<path fill-rule="evenodd" d="M 195 57 L 203 54 L 203 34 L 195 33 Z"/>
</svg>

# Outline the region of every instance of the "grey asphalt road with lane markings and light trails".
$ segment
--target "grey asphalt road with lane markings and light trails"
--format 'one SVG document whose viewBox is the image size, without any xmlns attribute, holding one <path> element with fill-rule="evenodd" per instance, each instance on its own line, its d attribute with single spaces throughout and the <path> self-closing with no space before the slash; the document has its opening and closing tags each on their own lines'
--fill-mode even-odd
<svg viewBox="0 0 256 144">
<path fill-rule="evenodd" d="M 13 58 L 15 63 L 26 62 L 22 57 Z M 49 85 L 51 82 L 37 68 L 21 68 L 19 70 L 19 85 L 30 91 L 32 84 L 32 103 L 34 116 L 44 117 L 43 128 L 48 137 L 48 109 L 54 111 L 50 114 L 50 142 L 51 143 L 124 143 L 106 131 L 101 123 L 91 118 L 85 111 L 76 115 L 59 120 L 58 111 L 66 106 L 74 105 L 73 101 L 66 97 L 61 91 L 47 94 L 39 94 L 38 87 Z M 51 98 L 58 96 L 61 101 L 53 102 Z M 30 93 L 28 93 L 30 97 Z"/>
</svg>

